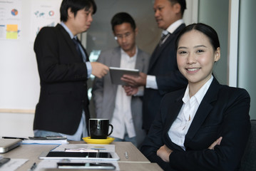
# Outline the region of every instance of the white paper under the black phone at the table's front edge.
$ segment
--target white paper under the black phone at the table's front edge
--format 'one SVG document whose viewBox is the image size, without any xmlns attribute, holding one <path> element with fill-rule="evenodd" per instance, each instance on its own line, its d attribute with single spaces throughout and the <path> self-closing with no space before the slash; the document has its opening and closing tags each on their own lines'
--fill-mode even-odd
<svg viewBox="0 0 256 171">
<path fill-rule="evenodd" d="M 39 162 L 39 165 L 37 165 L 36 169 L 34 171 L 40 171 L 42 169 L 49 169 L 49 168 L 57 168 L 57 162 L 103 162 L 102 160 L 79 160 L 79 159 L 73 159 L 73 160 L 41 160 L 41 162 Z M 117 161 L 104 161 L 103 163 L 112 163 L 113 165 L 116 166 L 116 170 L 120 170 L 119 169 L 119 165 Z"/>
</svg>

